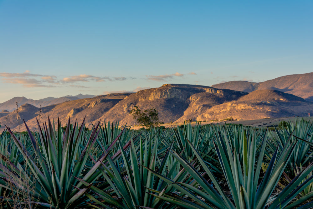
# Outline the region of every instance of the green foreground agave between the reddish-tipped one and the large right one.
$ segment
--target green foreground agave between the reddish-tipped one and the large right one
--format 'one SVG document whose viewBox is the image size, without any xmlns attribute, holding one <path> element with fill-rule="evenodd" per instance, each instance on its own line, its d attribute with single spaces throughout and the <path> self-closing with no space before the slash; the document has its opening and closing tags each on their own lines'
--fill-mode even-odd
<svg viewBox="0 0 313 209">
<path fill-rule="evenodd" d="M 170 209 L 176 207 L 167 204 L 166 201 L 160 201 L 150 194 L 151 191 L 162 190 L 167 185 L 163 184 L 163 181 L 150 171 L 143 169 L 143 167 L 149 167 L 151 170 L 157 168 L 159 172 L 172 176 L 177 170 L 176 166 L 179 168 L 179 164 L 176 162 L 168 169 L 169 149 L 164 150 L 166 151 L 165 154 L 159 152 L 159 135 L 157 134 L 159 131 L 160 129 L 155 134 L 150 135 L 151 138 L 141 138 L 139 135 L 134 139 L 131 138 L 128 148 L 123 147 L 121 141 L 118 140 L 122 158 L 122 160 L 118 160 L 120 164 L 116 165 L 116 161 L 112 159 L 111 155 L 108 155 L 106 157 L 108 165 L 102 164 L 102 175 L 105 178 L 105 183 L 98 187 L 90 187 L 95 196 L 86 194 L 94 201 L 91 204 L 93 207 L 110 208 L 110 206 L 114 206 L 121 209 L 151 207 Z M 136 140 L 139 143 L 135 143 Z M 159 158 L 159 155 L 163 156 L 162 159 Z M 181 178 L 186 176 L 186 172 L 185 175 L 179 175 Z M 86 182 L 82 182 L 88 185 Z"/>
</svg>

